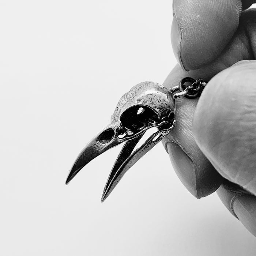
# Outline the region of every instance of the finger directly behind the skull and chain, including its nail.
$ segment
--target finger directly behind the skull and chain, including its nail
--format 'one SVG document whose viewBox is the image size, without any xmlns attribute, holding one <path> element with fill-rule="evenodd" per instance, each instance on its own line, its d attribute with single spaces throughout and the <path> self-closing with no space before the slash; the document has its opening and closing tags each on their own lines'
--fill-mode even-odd
<svg viewBox="0 0 256 256">
<path fill-rule="evenodd" d="M 200 71 L 185 72 L 176 65 L 163 85 L 171 88 L 186 76 L 198 78 L 201 75 Z M 197 99 L 183 98 L 176 101 L 176 127 L 163 139 L 163 144 L 182 184 L 193 196 L 200 198 L 216 191 L 222 183 L 222 177 L 194 140 L 192 118 L 196 105 Z"/>
</svg>

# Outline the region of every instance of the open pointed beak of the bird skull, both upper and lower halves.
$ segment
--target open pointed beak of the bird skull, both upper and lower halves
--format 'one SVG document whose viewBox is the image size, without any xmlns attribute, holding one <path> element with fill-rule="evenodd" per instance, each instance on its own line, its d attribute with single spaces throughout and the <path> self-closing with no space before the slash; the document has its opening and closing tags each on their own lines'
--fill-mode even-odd
<svg viewBox="0 0 256 256">
<path fill-rule="evenodd" d="M 101 198 L 101 202 L 103 202 L 112 192 L 114 187 L 116 187 L 117 183 L 124 176 L 125 172 L 127 172 L 127 170 L 131 168 L 141 157 L 143 157 L 143 155 L 145 155 L 151 148 L 160 142 L 174 127 L 175 123 L 176 122 L 174 120 L 170 128 L 155 132 L 146 140 L 146 142 L 142 144 L 142 146 L 136 150 L 134 150 L 134 148 L 144 135 L 145 131 L 140 132 L 135 136 L 121 139 L 116 135 L 114 127 L 110 125 L 101 133 L 96 135 L 80 152 L 68 174 L 66 184 L 68 184 L 69 181 L 71 181 L 72 178 L 74 178 L 75 175 L 92 159 L 102 154 L 109 148 L 115 147 L 118 144 L 126 141 L 109 174 Z"/>
</svg>

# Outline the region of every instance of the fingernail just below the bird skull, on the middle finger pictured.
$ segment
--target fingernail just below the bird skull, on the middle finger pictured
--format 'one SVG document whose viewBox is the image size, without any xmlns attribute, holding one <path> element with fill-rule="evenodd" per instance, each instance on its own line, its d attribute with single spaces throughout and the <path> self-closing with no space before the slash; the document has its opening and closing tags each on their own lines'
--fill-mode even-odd
<svg viewBox="0 0 256 256">
<path fill-rule="evenodd" d="M 200 198 L 196 190 L 195 168 L 191 158 L 174 142 L 167 143 L 166 148 L 174 171 L 182 184 L 193 196 Z"/>
</svg>

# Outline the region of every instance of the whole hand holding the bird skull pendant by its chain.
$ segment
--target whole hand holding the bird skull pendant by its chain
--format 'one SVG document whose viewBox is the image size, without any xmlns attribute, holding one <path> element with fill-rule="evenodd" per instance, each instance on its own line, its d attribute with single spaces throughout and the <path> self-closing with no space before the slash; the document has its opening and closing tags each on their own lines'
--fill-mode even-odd
<svg viewBox="0 0 256 256">
<path fill-rule="evenodd" d="M 256 1 L 173 0 L 178 61 L 164 86 L 208 82 L 177 100 L 176 128 L 163 141 L 178 177 L 197 198 L 215 191 L 256 236 Z"/>
</svg>

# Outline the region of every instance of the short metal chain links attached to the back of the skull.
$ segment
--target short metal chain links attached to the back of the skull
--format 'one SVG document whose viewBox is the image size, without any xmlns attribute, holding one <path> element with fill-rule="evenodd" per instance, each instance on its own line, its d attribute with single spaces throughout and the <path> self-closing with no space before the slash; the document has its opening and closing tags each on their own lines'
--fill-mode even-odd
<svg viewBox="0 0 256 256">
<path fill-rule="evenodd" d="M 189 86 L 185 85 L 185 83 L 187 82 L 191 83 L 191 85 Z M 175 99 L 183 96 L 189 99 L 193 99 L 193 98 L 196 98 L 197 96 L 200 96 L 206 84 L 207 84 L 206 82 L 203 82 L 203 79 L 198 78 L 195 80 L 191 77 L 185 77 L 180 80 L 180 83 L 177 86 L 174 86 L 169 90 L 173 93 Z M 176 91 L 180 91 L 180 92 L 175 93 Z"/>
</svg>

